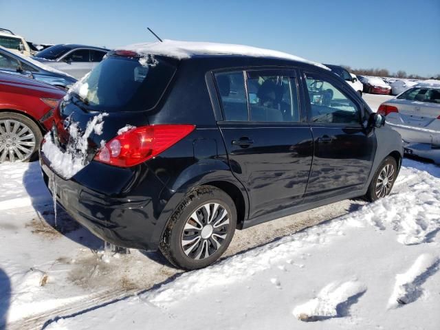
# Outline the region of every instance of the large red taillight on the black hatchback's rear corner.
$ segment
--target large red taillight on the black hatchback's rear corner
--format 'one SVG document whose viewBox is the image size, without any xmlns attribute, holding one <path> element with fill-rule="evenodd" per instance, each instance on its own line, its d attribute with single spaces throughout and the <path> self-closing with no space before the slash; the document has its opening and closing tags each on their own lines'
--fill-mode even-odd
<svg viewBox="0 0 440 330">
<path fill-rule="evenodd" d="M 113 137 L 98 151 L 94 159 L 114 166 L 135 166 L 159 155 L 194 129 L 194 125 L 151 125 L 133 128 Z"/>
</svg>

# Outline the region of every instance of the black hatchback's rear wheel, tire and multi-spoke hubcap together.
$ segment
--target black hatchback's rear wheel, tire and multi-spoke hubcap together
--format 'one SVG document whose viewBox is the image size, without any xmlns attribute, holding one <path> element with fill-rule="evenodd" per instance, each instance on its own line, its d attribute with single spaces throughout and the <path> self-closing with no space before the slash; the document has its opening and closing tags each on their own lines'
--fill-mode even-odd
<svg viewBox="0 0 440 330">
<path fill-rule="evenodd" d="M 214 186 L 200 186 L 177 206 L 159 248 L 173 265 L 196 270 L 219 259 L 235 227 L 236 208 L 230 196 Z"/>
</svg>

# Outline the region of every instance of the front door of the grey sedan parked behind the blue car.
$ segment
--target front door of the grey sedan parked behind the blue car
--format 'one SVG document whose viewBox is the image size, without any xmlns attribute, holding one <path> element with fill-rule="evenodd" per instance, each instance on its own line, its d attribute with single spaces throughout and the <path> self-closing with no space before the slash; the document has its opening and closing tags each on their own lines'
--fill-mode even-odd
<svg viewBox="0 0 440 330">
<path fill-rule="evenodd" d="M 51 63 L 51 66 L 55 67 Z M 56 69 L 65 72 L 76 79 L 83 78 L 92 69 L 92 63 L 90 61 L 90 50 L 86 48 L 80 48 L 68 52 L 58 60 L 56 63 Z"/>
</svg>

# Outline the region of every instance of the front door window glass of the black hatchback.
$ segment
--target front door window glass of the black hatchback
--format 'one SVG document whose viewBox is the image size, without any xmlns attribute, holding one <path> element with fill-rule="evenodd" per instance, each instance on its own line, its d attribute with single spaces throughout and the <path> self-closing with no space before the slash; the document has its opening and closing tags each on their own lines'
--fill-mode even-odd
<svg viewBox="0 0 440 330">
<path fill-rule="evenodd" d="M 309 90 L 312 122 L 360 123 L 360 111 L 356 104 L 329 80 L 307 74 L 306 83 Z"/>
</svg>

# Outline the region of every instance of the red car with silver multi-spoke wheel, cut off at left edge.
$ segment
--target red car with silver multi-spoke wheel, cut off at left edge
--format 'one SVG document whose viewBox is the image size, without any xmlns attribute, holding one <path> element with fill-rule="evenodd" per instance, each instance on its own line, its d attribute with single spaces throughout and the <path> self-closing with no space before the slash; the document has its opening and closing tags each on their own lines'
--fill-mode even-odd
<svg viewBox="0 0 440 330">
<path fill-rule="evenodd" d="M 34 79 L 0 73 L 0 163 L 30 162 L 65 91 Z"/>
</svg>

